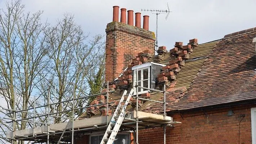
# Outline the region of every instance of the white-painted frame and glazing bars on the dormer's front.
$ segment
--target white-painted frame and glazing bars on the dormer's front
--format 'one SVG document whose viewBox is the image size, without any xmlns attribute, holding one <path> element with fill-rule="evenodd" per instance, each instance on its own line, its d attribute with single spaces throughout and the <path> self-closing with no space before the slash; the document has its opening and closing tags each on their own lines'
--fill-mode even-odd
<svg viewBox="0 0 256 144">
<path fill-rule="evenodd" d="M 147 78 L 144 79 L 143 77 L 143 70 L 144 69 L 147 69 Z M 134 69 L 133 71 L 133 95 L 136 95 L 136 84 L 137 84 L 137 73 L 138 71 L 141 71 L 141 80 L 138 80 L 138 82 L 141 82 L 141 85 L 142 87 L 143 86 L 143 81 L 147 81 L 147 88 L 150 88 L 150 66 L 147 66 L 147 67 L 142 67 L 142 68 L 137 68 L 137 69 Z M 149 90 L 144 90 L 142 88 L 138 88 L 138 89 L 141 89 L 140 92 L 138 92 L 138 94 L 144 94 L 144 93 L 148 93 Z"/>
</svg>

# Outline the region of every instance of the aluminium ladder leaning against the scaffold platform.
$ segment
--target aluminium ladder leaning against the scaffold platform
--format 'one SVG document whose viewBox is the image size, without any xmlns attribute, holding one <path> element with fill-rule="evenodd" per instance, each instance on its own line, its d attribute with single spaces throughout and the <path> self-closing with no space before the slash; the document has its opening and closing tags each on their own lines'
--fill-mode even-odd
<svg viewBox="0 0 256 144">
<path fill-rule="evenodd" d="M 124 104 L 122 110 L 120 111 L 121 104 L 124 100 L 124 96 L 126 95 L 126 93 L 127 93 L 127 90 L 124 90 L 123 96 L 120 99 L 118 106 L 116 107 L 115 113 L 113 114 L 113 116 L 111 118 L 109 126 L 107 127 L 107 130 L 106 130 L 105 134 L 103 135 L 103 138 L 102 138 L 100 144 L 112 144 L 114 142 L 116 134 L 118 133 L 119 128 L 123 123 L 123 120 L 125 117 L 125 108 L 131 99 L 133 89 L 131 89 L 131 92 L 126 99 L 125 104 Z M 120 111 L 120 114 L 118 113 L 119 111 Z M 116 117 L 118 117 L 117 120 L 115 120 Z M 114 125 L 114 127 L 112 127 L 113 125 Z"/>
</svg>

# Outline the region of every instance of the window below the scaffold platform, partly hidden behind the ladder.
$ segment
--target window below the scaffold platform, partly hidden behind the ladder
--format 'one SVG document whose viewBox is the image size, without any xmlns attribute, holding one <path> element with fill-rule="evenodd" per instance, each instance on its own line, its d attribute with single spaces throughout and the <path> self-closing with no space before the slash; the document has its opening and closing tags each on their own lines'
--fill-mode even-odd
<svg viewBox="0 0 256 144">
<path fill-rule="evenodd" d="M 102 138 L 103 135 L 91 136 L 91 144 L 100 144 Z M 124 133 L 116 135 L 113 144 L 131 144 L 130 134 Z"/>
</svg>

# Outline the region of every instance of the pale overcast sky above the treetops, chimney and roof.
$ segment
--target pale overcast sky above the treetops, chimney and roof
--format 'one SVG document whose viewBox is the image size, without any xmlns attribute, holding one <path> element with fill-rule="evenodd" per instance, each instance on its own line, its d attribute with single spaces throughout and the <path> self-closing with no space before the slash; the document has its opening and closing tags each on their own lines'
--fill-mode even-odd
<svg viewBox="0 0 256 144">
<path fill-rule="evenodd" d="M 159 15 L 158 44 L 171 49 L 175 41 L 199 43 L 221 39 L 224 35 L 256 27 L 256 0 L 23 0 L 26 10 L 43 10 L 45 21 L 54 23 L 64 13 L 72 13 L 75 21 L 92 35 L 105 34 L 106 24 L 112 21 L 112 6 L 141 12 L 141 9 L 169 9 L 165 20 Z M 3 8 L 5 0 L 0 0 Z M 156 30 L 156 15 L 149 15 L 149 30 Z M 119 14 L 120 16 L 120 14 Z M 120 17 L 119 17 L 120 19 Z"/>
</svg>

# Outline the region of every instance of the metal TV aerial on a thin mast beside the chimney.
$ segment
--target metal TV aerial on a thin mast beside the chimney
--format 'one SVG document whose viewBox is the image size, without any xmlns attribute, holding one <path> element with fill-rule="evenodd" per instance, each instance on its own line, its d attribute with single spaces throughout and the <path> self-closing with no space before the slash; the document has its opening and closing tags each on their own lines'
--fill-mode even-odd
<svg viewBox="0 0 256 144">
<path fill-rule="evenodd" d="M 167 20 L 170 13 L 172 13 L 169 9 L 169 5 L 167 3 L 167 9 L 141 9 L 142 12 L 151 12 L 152 14 L 156 15 L 156 40 L 155 40 L 155 51 L 158 48 L 158 41 L 157 41 L 157 29 L 158 29 L 158 15 L 159 14 L 166 14 L 165 20 Z"/>
</svg>

